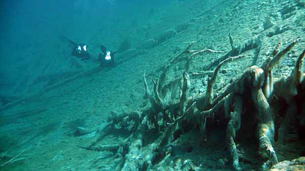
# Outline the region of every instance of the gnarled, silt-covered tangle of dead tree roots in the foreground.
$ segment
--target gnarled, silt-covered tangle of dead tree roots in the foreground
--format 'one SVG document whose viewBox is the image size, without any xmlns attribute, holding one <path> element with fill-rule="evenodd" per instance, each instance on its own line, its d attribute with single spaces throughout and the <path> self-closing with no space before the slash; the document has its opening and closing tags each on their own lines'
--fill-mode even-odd
<svg viewBox="0 0 305 171">
<path fill-rule="evenodd" d="M 175 56 L 164 67 L 159 79 L 153 80 L 153 93 L 149 89 L 144 72 L 145 97 L 150 102 L 150 107 L 131 113 L 113 113 L 108 119 L 108 125 L 100 131 L 100 137 L 88 146 L 81 148 L 112 151 L 116 157 L 121 158 L 121 170 L 154 169 L 156 164 L 162 163 L 162 160 L 174 155 L 172 151 L 175 141 L 174 135 L 178 132 L 184 134 L 190 130 L 185 128 L 191 127 L 191 129 L 199 129 L 200 136 L 204 137 L 207 131 L 206 122 L 210 120 L 208 118 L 227 118 L 226 139 L 232 166 L 236 170 L 242 170 L 235 138 L 240 127 L 247 126 L 247 123 L 244 123 L 242 119 L 246 115 L 246 117 L 253 118 L 252 125 L 255 125 L 256 131 L 248 134 L 254 134 L 256 137 L 258 154 L 261 156 L 261 169 L 266 170 L 272 164 L 278 163 L 273 140 L 277 140 L 278 127 L 285 118 L 285 115 L 276 117 L 277 113 L 273 113 L 276 110 L 272 109 L 272 105 L 279 103 L 279 100 L 275 99 L 284 99 L 287 108 L 295 106 L 294 104 L 300 105 L 300 101 L 304 100 L 302 97 L 305 94 L 305 83 L 302 65 L 305 51 L 297 59 L 294 71 L 289 77 L 275 80 L 272 74 L 274 66 L 279 64 L 285 54 L 298 41 L 299 39 L 294 40 L 280 52 L 281 44 L 279 43 L 261 67 L 249 67 L 216 97 L 213 88 L 220 68 L 228 62 L 242 58 L 243 55 L 240 54 L 251 47 L 257 47 L 257 37 L 253 41 L 247 42 L 245 46 L 235 48 L 230 35 L 232 51 L 223 57 L 223 61 L 219 62 L 214 72 L 211 73 L 205 95 L 198 96 L 188 95 L 191 87 L 190 79 L 197 75 L 188 73 L 193 57 L 201 53 L 223 52 L 214 50 L 191 51 L 189 49 L 192 44 L 190 44 L 185 51 Z M 189 57 L 185 58 L 184 56 L 188 54 L 190 54 Z M 231 57 L 230 54 L 237 56 Z M 180 77 L 166 81 L 167 73 L 172 64 L 185 59 L 187 59 L 186 71 Z M 210 72 L 207 73 L 210 74 Z M 289 91 L 283 91 L 287 88 Z M 293 117 L 289 116 L 289 118 Z M 276 120 L 274 120 L 275 118 Z M 128 131 L 129 137 L 126 141 L 114 145 L 97 145 L 115 129 Z M 148 135 L 149 142 L 147 141 Z"/>
</svg>

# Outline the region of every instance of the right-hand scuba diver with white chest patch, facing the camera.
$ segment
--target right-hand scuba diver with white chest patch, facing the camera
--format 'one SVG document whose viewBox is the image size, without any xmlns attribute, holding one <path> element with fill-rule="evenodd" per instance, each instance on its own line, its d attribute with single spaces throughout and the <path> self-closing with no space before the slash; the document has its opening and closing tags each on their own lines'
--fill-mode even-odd
<svg viewBox="0 0 305 171">
<path fill-rule="evenodd" d="M 98 57 L 98 62 L 100 62 L 100 66 L 114 66 L 115 65 L 115 60 L 114 60 L 114 54 L 117 53 L 116 52 L 112 52 L 112 51 L 107 51 L 106 47 L 101 45 L 101 50 L 102 53 L 99 54 Z"/>
</svg>

